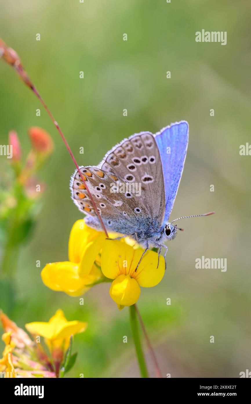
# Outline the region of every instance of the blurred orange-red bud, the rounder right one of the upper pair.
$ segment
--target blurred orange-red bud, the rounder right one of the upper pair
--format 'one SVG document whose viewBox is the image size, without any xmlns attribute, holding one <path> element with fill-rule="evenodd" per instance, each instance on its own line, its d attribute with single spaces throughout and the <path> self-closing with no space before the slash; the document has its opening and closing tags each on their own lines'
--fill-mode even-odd
<svg viewBox="0 0 251 404">
<path fill-rule="evenodd" d="M 51 154 L 54 149 L 52 138 L 46 130 L 33 126 L 29 129 L 32 147 L 41 154 Z"/>
</svg>

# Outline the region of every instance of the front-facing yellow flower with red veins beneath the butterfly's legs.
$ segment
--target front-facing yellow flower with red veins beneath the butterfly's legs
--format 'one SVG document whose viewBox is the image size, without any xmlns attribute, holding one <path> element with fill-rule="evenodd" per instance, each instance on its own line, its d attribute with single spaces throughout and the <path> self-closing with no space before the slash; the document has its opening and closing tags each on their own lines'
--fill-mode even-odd
<svg viewBox="0 0 251 404">
<path fill-rule="evenodd" d="M 114 279 L 110 287 L 110 296 L 118 308 L 131 306 L 139 298 L 140 287 L 149 288 L 157 285 L 165 272 L 164 257 L 148 250 L 143 256 L 137 271 L 135 271 L 143 253 L 142 248 L 134 249 L 118 240 L 106 240 L 102 249 L 101 269 L 107 278 Z"/>
</svg>

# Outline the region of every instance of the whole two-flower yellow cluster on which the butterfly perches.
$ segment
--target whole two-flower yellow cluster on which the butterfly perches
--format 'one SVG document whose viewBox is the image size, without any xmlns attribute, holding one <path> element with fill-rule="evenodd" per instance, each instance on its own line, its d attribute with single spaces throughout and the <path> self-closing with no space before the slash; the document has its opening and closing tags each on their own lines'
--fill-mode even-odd
<svg viewBox="0 0 251 404">
<path fill-rule="evenodd" d="M 118 234 L 109 234 L 110 238 Z M 92 284 L 102 280 L 112 280 L 110 296 L 122 309 L 133 305 L 139 298 L 140 287 L 157 285 L 164 276 L 164 258 L 148 251 L 141 260 L 143 249 L 129 239 L 106 240 L 106 235 L 78 220 L 71 230 L 68 245 L 69 261 L 47 264 L 41 277 L 52 290 L 63 291 L 71 296 L 86 292 Z M 95 264 L 100 263 L 101 271 Z M 125 265 L 126 262 L 126 265 Z"/>
</svg>

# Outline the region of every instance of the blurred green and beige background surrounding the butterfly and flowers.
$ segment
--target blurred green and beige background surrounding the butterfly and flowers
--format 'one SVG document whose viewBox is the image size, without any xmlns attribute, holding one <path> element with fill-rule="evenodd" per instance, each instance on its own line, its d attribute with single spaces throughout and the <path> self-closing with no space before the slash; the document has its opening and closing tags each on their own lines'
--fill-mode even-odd
<svg viewBox="0 0 251 404">
<path fill-rule="evenodd" d="M 0 8 L 3 40 L 19 53 L 80 165 L 99 163 L 133 133 L 189 122 L 187 160 L 171 218 L 216 214 L 179 222 L 185 231 L 168 244 L 164 279 L 141 289 L 138 307 L 163 377 L 239 377 L 251 370 L 251 157 L 239 155 L 239 146 L 251 142 L 251 4 L 1 0 Z M 226 46 L 195 42 L 195 32 L 202 29 L 227 31 Z M 88 321 L 87 331 L 75 337 L 79 356 L 69 377 L 139 377 L 128 309 L 118 311 L 109 284 L 92 288 L 80 306 L 79 298 L 41 282 L 47 262 L 67 259 L 71 226 L 81 218 L 70 198 L 74 166 L 38 100 L 4 62 L 0 94 L 0 144 L 15 129 L 25 154 L 27 129 L 40 126 L 56 145 L 39 173 L 47 189 L 33 236 L 21 251 L 17 292 L 1 298 L 6 314 L 19 326 L 48 321 L 58 308 L 68 320 Z M 1 177 L 7 164 L 1 156 Z M 202 255 L 226 258 L 227 271 L 195 269 Z M 148 355 L 147 362 L 154 377 Z"/>
</svg>

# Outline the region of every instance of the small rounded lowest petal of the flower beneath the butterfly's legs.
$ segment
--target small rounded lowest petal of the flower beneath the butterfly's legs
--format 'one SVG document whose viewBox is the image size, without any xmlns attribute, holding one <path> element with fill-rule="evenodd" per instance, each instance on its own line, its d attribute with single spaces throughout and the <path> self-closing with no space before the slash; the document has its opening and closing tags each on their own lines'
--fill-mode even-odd
<svg viewBox="0 0 251 404">
<path fill-rule="evenodd" d="M 140 295 L 140 287 L 137 281 L 129 275 L 120 275 L 110 287 L 110 297 L 120 306 L 131 306 L 137 302 Z"/>
</svg>

